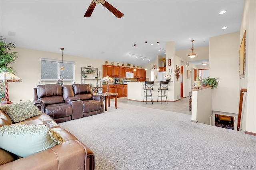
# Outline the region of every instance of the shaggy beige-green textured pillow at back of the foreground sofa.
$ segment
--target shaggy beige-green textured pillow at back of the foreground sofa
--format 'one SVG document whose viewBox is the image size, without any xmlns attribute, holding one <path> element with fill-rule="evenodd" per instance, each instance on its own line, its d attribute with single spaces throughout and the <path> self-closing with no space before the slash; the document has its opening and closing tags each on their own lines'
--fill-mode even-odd
<svg viewBox="0 0 256 170">
<path fill-rule="evenodd" d="M 40 112 L 36 105 L 30 101 L 3 106 L 0 107 L 0 109 L 4 111 L 14 123 L 24 121 L 30 117 L 42 115 L 42 112 Z"/>
</svg>

